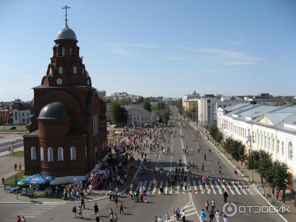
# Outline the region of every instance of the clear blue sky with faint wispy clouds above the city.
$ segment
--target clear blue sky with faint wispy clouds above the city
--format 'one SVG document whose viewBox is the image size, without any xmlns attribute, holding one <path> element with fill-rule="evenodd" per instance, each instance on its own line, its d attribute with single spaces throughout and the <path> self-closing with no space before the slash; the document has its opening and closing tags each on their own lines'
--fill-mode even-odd
<svg viewBox="0 0 296 222">
<path fill-rule="evenodd" d="M 296 95 L 295 0 L 0 0 L 0 101 L 32 100 L 66 4 L 107 95 Z"/>
</svg>

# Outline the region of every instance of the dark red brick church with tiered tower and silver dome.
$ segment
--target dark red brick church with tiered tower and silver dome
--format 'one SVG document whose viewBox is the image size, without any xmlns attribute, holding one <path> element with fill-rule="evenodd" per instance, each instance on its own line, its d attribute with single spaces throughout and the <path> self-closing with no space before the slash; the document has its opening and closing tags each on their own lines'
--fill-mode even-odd
<svg viewBox="0 0 296 222">
<path fill-rule="evenodd" d="M 79 57 L 67 11 L 54 42 L 46 75 L 33 88 L 30 133 L 24 136 L 25 176 L 48 174 L 56 177 L 52 184 L 62 184 L 86 179 L 107 155 L 106 102 Z"/>
</svg>

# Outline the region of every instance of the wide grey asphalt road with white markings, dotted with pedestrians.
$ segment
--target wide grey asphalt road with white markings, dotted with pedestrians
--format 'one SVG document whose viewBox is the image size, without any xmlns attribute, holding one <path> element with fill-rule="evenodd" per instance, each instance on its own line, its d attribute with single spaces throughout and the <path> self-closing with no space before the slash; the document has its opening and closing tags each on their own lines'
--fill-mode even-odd
<svg viewBox="0 0 296 222">
<path fill-rule="evenodd" d="M 164 144 L 164 148 L 170 147 L 170 150 L 173 151 L 172 155 L 160 155 L 158 159 L 156 159 L 156 152 L 160 153 L 160 148 L 156 151 L 148 152 L 151 153 L 148 155 L 148 161 L 151 160 L 151 166 L 149 168 L 157 167 L 161 164 L 165 171 L 175 171 L 175 167 L 179 167 L 179 159 L 182 159 L 182 167 L 185 167 L 185 163 L 189 162 L 197 163 L 199 165 L 199 170 L 194 172 L 194 170 L 188 170 L 186 174 L 188 174 L 188 180 L 190 184 L 190 189 L 193 192 L 183 192 L 182 190 L 178 190 L 177 193 L 169 194 L 171 191 L 171 187 L 166 183 L 166 174 L 157 172 L 153 175 L 152 171 L 148 171 L 146 174 L 139 174 L 140 181 L 143 182 L 147 187 L 152 185 L 153 178 L 157 181 L 157 188 L 153 189 L 149 192 L 147 197 L 148 203 L 138 202 L 135 203 L 131 198 L 127 195 L 119 198 L 118 205 L 122 202 L 124 206 L 125 214 L 119 215 L 119 208 L 115 208 L 114 202 L 109 201 L 109 199 L 98 201 L 99 206 L 99 214 L 104 219 L 104 222 L 109 222 L 109 208 L 114 208 L 114 213 L 117 214 L 119 218 L 119 222 L 152 222 L 154 220 L 154 216 L 162 216 L 165 218 L 165 214 L 169 213 L 172 221 L 172 213 L 173 210 L 177 207 L 180 210 L 185 210 L 186 214 L 186 222 L 199 222 L 198 214 L 201 209 L 205 209 L 205 201 L 209 202 L 214 199 L 216 203 L 216 209 L 222 211 L 223 198 L 222 198 L 222 190 L 223 188 L 228 188 L 229 198 L 227 201 L 233 201 L 237 205 L 268 205 L 267 202 L 259 195 L 257 190 L 254 188 L 249 189 L 239 189 L 237 185 L 233 184 L 232 181 L 245 181 L 242 177 L 234 176 L 234 168 L 233 166 L 220 154 L 217 152 L 212 145 L 203 138 L 202 141 L 194 142 L 192 140 L 192 135 L 194 130 L 185 130 L 184 128 L 174 128 L 180 134 L 185 135 L 184 140 L 180 137 L 169 139 L 170 143 Z M 202 145 L 202 151 L 207 154 L 207 160 L 204 161 L 204 155 L 202 153 L 197 153 L 197 143 Z M 161 141 L 160 145 L 163 142 Z M 189 152 L 189 155 L 182 154 L 182 148 L 185 146 L 190 146 L 193 148 L 193 153 Z M 212 149 L 212 154 L 209 154 L 209 148 Z M 218 173 L 218 158 L 220 159 L 222 166 L 222 174 Z M 205 172 L 201 172 L 200 165 L 204 163 Z M 207 180 L 206 188 L 212 189 L 214 191 L 201 191 L 200 188 L 201 176 L 202 175 L 210 175 L 210 171 L 213 169 L 213 177 L 225 180 L 224 182 L 216 180 L 210 181 Z M 194 177 L 192 177 L 194 176 Z M 198 176 L 196 178 L 196 176 Z M 229 181 L 229 182 L 227 182 Z M 216 184 L 217 183 L 217 184 Z M 160 185 L 164 186 L 164 190 L 168 193 L 166 195 L 159 195 L 159 187 Z M 178 188 L 175 183 L 175 188 Z M 216 188 L 216 190 L 215 190 Z M 217 189 L 220 188 L 220 189 Z M 231 189 L 232 188 L 232 189 Z M 199 190 L 199 191 L 198 191 Z M 72 216 L 72 207 L 74 205 L 78 205 L 77 203 L 66 203 L 66 204 L 3 204 L 1 205 L 1 218 L 3 221 L 15 221 L 16 216 L 25 215 L 27 216 L 28 222 L 39 222 L 39 221 L 56 221 L 56 222 L 68 222 L 68 221 L 76 221 L 78 219 L 73 219 Z M 85 210 L 82 211 L 82 215 L 84 217 L 83 220 L 94 220 L 94 212 L 93 212 L 94 202 L 86 203 Z M 253 211 L 252 211 L 253 212 Z M 284 221 L 278 214 L 259 214 L 259 213 L 238 213 L 234 217 L 228 218 L 229 222 L 282 222 Z M 208 213 L 207 213 L 207 221 L 209 221 Z M 222 219 L 220 220 L 222 222 Z M 289 220 L 288 220 L 289 221 Z M 215 219 L 216 222 L 216 219 Z"/>
</svg>

